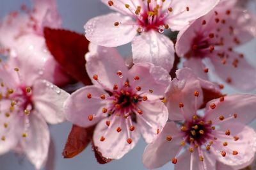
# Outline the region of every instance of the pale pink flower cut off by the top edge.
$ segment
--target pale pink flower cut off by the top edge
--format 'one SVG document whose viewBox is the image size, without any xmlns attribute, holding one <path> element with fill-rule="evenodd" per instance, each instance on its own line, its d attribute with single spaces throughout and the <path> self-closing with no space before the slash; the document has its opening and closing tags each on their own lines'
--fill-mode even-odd
<svg viewBox="0 0 256 170">
<path fill-rule="evenodd" d="M 174 61 L 173 42 L 165 29 L 179 31 L 214 8 L 218 0 L 102 0 L 112 10 L 89 20 L 86 38 L 97 45 L 116 47 L 132 42 L 134 63 L 153 63 L 170 71 Z M 136 36 L 139 33 L 139 36 Z"/>
</svg>

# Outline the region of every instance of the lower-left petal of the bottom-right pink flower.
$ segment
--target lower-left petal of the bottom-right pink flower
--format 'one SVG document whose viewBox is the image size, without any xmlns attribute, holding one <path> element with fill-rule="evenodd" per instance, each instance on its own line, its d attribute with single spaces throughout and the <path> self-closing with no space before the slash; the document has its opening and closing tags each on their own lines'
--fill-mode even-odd
<svg viewBox="0 0 256 170">
<path fill-rule="evenodd" d="M 166 137 L 172 137 L 172 140 L 168 141 Z M 145 148 L 142 160 L 144 166 L 148 169 L 155 169 L 170 162 L 179 152 L 182 140 L 182 134 L 175 123 L 166 123 L 163 132 Z"/>
</svg>

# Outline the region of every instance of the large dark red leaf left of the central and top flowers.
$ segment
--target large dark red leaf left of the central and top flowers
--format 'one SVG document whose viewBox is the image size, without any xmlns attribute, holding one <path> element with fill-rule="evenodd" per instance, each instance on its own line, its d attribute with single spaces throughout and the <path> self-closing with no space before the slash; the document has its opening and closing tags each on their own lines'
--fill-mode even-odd
<svg viewBox="0 0 256 170">
<path fill-rule="evenodd" d="M 83 35 L 64 29 L 44 28 L 46 45 L 52 56 L 71 77 L 85 85 L 92 84 L 85 70 L 84 55 L 88 40 Z"/>
</svg>

